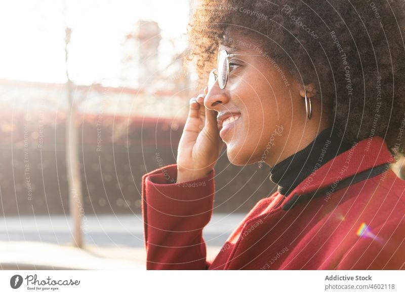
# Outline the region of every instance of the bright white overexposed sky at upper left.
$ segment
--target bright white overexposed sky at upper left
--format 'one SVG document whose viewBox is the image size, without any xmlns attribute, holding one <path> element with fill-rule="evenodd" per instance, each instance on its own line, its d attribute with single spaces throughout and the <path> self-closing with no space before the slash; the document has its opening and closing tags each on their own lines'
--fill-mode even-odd
<svg viewBox="0 0 405 295">
<path fill-rule="evenodd" d="M 157 21 L 161 66 L 186 45 L 189 0 L 8 0 L 0 2 L 0 79 L 64 83 L 64 28 L 73 30 L 74 83 L 119 86 L 121 43 L 137 20 Z M 174 39 L 175 47 L 165 42 Z"/>
</svg>

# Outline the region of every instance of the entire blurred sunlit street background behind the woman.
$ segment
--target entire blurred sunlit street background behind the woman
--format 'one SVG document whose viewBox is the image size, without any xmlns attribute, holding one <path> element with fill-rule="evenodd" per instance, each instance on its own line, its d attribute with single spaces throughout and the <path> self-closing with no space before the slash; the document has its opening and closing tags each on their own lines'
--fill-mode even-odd
<svg viewBox="0 0 405 295">
<path fill-rule="evenodd" d="M 145 268 L 141 178 L 176 163 L 201 93 L 183 63 L 193 5 L 1 2 L 2 269 Z M 209 257 L 274 191 L 268 177 L 221 155 Z"/>
</svg>

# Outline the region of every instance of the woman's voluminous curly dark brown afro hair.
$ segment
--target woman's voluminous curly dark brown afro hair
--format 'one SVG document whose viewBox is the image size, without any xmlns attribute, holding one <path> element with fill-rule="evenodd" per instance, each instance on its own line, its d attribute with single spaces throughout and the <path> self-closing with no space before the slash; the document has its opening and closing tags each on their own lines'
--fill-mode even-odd
<svg viewBox="0 0 405 295">
<path fill-rule="evenodd" d="M 190 57 L 206 81 L 228 32 L 251 36 L 315 85 L 341 138 L 381 136 L 403 155 L 404 26 L 405 0 L 201 0 L 188 26 Z"/>
</svg>

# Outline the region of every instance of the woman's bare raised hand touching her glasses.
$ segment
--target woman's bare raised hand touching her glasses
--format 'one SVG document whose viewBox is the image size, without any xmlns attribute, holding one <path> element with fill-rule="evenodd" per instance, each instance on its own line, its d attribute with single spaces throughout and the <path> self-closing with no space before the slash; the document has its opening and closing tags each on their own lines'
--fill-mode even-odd
<svg viewBox="0 0 405 295">
<path fill-rule="evenodd" d="M 187 121 L 177 150 L 177 183 L 209 174 L 224 146 L 219 136 L 217 112 L 204 106 L 207 92 L 206 87 L 204 94 L 190 99 Z"/>
</svg>

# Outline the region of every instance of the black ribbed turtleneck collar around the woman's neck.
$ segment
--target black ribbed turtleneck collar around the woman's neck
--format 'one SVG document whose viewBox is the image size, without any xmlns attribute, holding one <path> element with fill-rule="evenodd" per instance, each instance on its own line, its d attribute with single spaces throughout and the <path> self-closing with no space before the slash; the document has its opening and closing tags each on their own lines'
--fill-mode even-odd
<svg viewBox="0 0 405 295">
<path fill-rule="evenodd" d="M 306 148 L 274 165 L 270 180 L 278 185 L 281 195 L 287 196 L 314 170 L 350 148 L 351 144 L 342 141 L 332 127 L 327 128 Z"/>
</svg>

